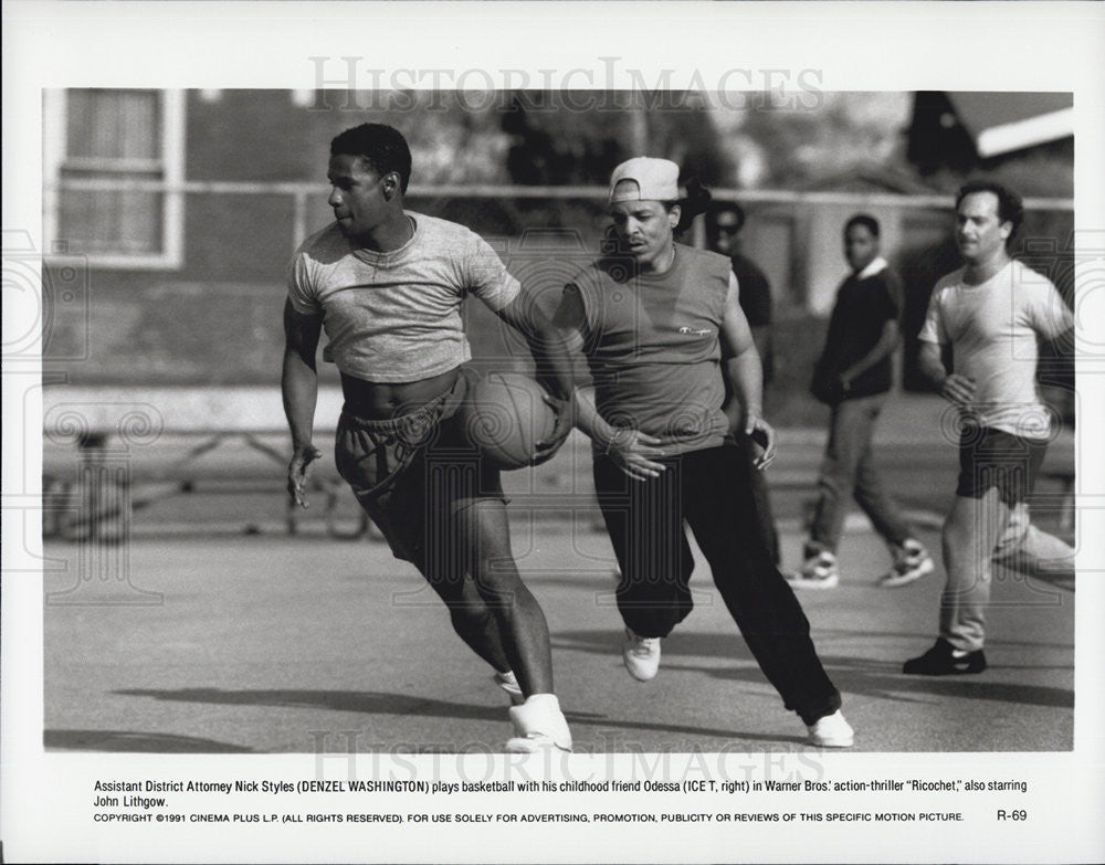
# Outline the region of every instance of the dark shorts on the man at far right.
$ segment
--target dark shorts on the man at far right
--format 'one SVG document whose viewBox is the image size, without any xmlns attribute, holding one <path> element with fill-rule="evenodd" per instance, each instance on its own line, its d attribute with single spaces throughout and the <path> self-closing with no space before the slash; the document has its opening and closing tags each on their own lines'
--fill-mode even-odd
<svg viewBox="0 0 1105 865">
<path fill-rule="evenodd" d="M 1046 441 L 1040 439 L 1022 439 L 986 426 L 965 426 L 959 437 L 956 495 L 981 498 L 997 487 L 1001 500 L 1012 507 L 1032 493 L 1046 451 Z"/>
</svg>

